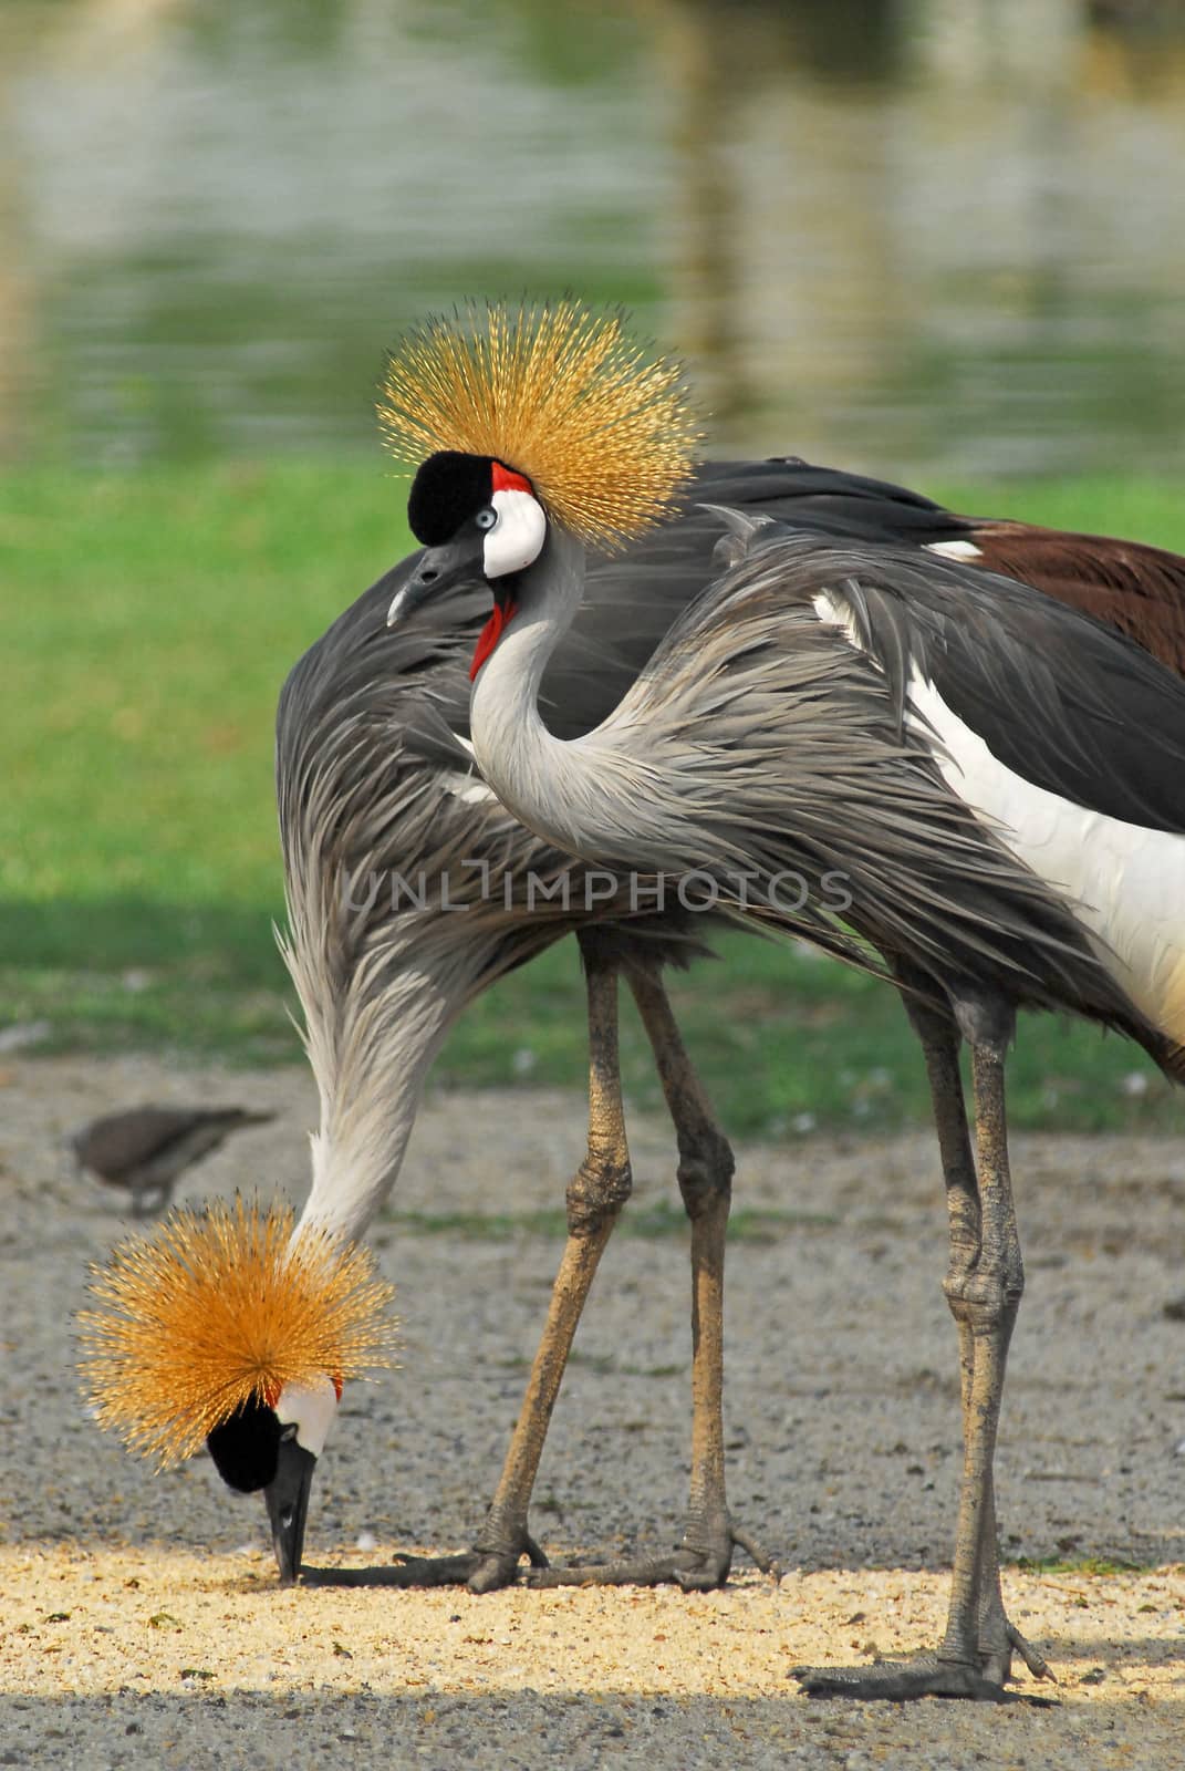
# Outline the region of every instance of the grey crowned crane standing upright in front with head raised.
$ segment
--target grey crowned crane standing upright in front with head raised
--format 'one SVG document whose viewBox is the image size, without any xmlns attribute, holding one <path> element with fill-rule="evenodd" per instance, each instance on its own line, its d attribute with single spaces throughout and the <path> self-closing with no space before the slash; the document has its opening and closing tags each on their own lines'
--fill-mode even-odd
<svg viewBox="0 0 1185 1771">
<path fill-rule="evenodd" d="M 1185 685 L 997 574 L 719 512 L 730 542 L 714 583 L 616 708 L 565 739 L 540 714 L 544 671 L 585 595 L 586 545 L 638 535 L 685 476 L 677 372 L 574 303 L 491 308 L 407 340 L 384 421 L 420 460 L 409 517 L 427 547 L 388 620 L 487 579 L 469 728 L 507 809 L 622 878 L 703 877 L 709 901 L 905 994 L 933 1093 L 962 1362 L 951 1608 L 937 1654 L 801 1677 L 815 1695 L 999 1700 L 1013 1652 L 1049 1672 L 1004 1613 L 995 1546 L 992 1459 L 1024 1286 L 1004 1054 L 1018 1008 L 1063 1009 L 1185 1080 Z M 804 886 L 792 905 L 786 878 Z"/>
</svg>

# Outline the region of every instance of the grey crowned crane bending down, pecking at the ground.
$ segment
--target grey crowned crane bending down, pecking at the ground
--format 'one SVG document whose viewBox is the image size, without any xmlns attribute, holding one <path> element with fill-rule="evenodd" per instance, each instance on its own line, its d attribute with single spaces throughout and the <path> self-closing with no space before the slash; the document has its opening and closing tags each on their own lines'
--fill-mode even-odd
<svg viewBox="0 0 1185 1771">
<path fill-rule="evenodd" d="M 599 724 L 666 629 L 714 577 L 714 549 L 726 533 L 714 507 L 877 545 L 955 547 L 964 556 L 976 549 L 976 558 L 994 561 L 994 549 L 1006 537 L 1018 568 L 1054 593 L 1089 606 L 1095 599 L 1112 599 L 1111 613 L 1150 648 L 1185 655 L 1185 561 L 1173 554 L 1134 542 L 958 517 L 902 487 L 799 460 L 716 462 L 696 471 L 661 528 L 620 554 L 590 556 L 585 604 L 544 680 L 556 735 L 579 737 Z M 719 1261 L 732 1153 L 678 1040 L 662 986 L 666 965 L 685 965 L 701 951 L 696 933 L 710 928 L 710 917 L 687 917 L 677 905 L 666 916 L 634 916 L 623 896 L 597 898 L 586 909 L 579 864 L 503 811 L 466 749 L 468 664 L 489 607 L 485 581 L 475 574 L 469 583 L 439 588 L 414 618 L 388 630 L 391 597 L 416 565 L 413 558 L 393 567 L 338 616 L 296 664 L 280 698 L 276 793 L 289 901 L 287 960 L 322 1103 L 314 1188 L 294 1247 L 319 1226 L 347 1243 L 365 1233 L 395 1183 L 425 1077 L 448 1027 L 487 985 L 569 932 L 581 944 L 588 985 L 590 1137 L 569 1187 L 570 1238 L 540 1350 L 475 1548 L 407 1562 L 386 1578 L 409 1585 L 468 1582 L 485 1590 L 512 1580 L 523 1555 L 538 1558 L 528 1535 L 535 1468 L 567 1348 L 631 1188 L 616 1068 L 616 992 L 623 976 L 655 1047 L 675 1119 L 700 1330 L 693 1351 L 696 1498 L 685 1537 L 673 1557 L 627 1573 L 636 1580 L 712 1585 L 726 1578 L 733 1550 L 719 1426 Z M 376 767 L 379 751 L 383 767 Z M 544 893 L 528 901 L 530 877 L 553 884 L 565 870 L 567 907 Z M 464 905 L 464 914 L 443 912 L 445 898 L 452 907 Z M 223 1319 L 225 1296 L 237 1295 L 227 1275 L 248 1270 L 255 1259 L 250 1250 L 262 1234 L 259 1224 L 236 1224 L 213 1245 L 198 1245 L 202 1284 L 195 1293 L 186 1291 L 179 1305 L 184 1312 L 197 1311 L 198 1321 L 202 1298 L 209 1318 Z M 117 1257 L 120 1272 L 124 1259 Z M 165 1263 L 163 1272 L 177 1268 Z M 266 1309 L 275 1330 L 269 1330 L 273 1355 L 283 1355 L 290 1339 L 285 1296 L 276 1270 Z M 308 1298 L 306 1288 L 301 1296 Z M 342 1378 L 345 1355 L 340 1348 L 322 1351 L 312 1376 L 296 1367 L 305 1388 L 315 1392 L 308 1401 L 299 1401 L 296 1378 L 280 1399 L 276 1383 L 289 1367 L 271 1364 L 234 1408 L 227 1373 L 209 1367 L 204 1381 L 214 1385 L 211 1417 L 207 1403 L 193 1399 L 191 1381 L 182 1381 L 182 1373 L 168 1364 L 175 1350 L 161 1348 L 159 1334 L 149 1335 L 151 1344 L 136 1334 L 158 1319 L 158 1305 L 159 1300 L 149 1309 L 142 1288 L 131 1302 L 117 1305 L 105 1298 L 97 1311 L 103 1319 L 115 1311 L 124 1325 L 117 1342 L 110 1335 L 96 1342 L 96 1358 L 89 1360 L 103 1417 L 156 1456 L 179 1456 L 179 1447 L 195 1443 L 200 1449 L 209 1431 L 218 1468 L 232 1486 L 264 1491 L 280 1576 L 290 1582 L 301 1567 L 314 1459 L 335 1413 L 331 1378 Z M 182 1319 L 193 1321 L 188 1314 Z M 243 1365 L 241 1351 L 230 1358 L 232 1374 L 239 1374 L 236 1383 L 243 1369 L 255 1369 L 250 1362 Z M 165 1365 L 158 1369 L 159 1358 Z M 170 1408 L 181 1411 L 175 1420 Z M 175 1429 L 165 1443 L 161 1410 Z M 306 1419 L 298 1422 L 294 1413 Z M 151 1431 L 145 1419 L 156 1422 Z M 216 1429 L 202 1426 L 195 1440 L 195 1419 L 198 1424 L 214 1419 Z"/>
</svg>

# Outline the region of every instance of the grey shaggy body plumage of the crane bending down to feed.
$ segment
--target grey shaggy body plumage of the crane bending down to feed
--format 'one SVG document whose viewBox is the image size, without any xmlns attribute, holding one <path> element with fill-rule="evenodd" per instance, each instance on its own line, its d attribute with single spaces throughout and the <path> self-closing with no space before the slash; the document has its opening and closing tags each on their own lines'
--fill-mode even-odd
<svg viewBox="0 0 1185 1771">
<path fill-rule="evenodd" d="M 585 606 L 542 682 L 540 710 L 556 737 L 597 726 L 671 623 L 717 576 L 724 526 L 703 508 L 712 505 L 877 545 L 972 538 L 987 551 L 990 537 L 1008 530 L 1020 563 L 1034 547 L 1034 558 L 1056 563 L 1068 558 L 1066 549 L 1080 558 L 1086 545 L 1080 537 L 958 517 L 902 487 L 797 460 L 709 464 L 689 485 L 677 522 L 616 560 L 590 561 Z M 1114 576 L 1112 554 L 1134 561 L 1128 568 L 1146 584 L 1144 602 L 1176 632 L 1185 576 L 1169 554 L 1089 542 L 1086 570 L 1073 581 L 1050 581 L 1050 590 L 1089 597 L 1096 577 L 1105 583 Z M 276 721 L 289 903 L 283 947 L 321 1086 L 322 1135 L 345 1130 L 365 1107 L 379 1121 L 372 1144 L 379 1167 L 390 1132 L 383 1119 L 393 1110 L 391 1073 L 427 1063 L 448 1024 L 485 985 L 586 921 L 538 903 L 526 916 L 521 900 L 507 907 L 501 898 L 507 871 L 523 878 L 535 870 L 554 882 L 569 862 L 482 795 L 480 776 L 459 742 L 469 730 L 468 661 L 489 613 L 487 588 L 475 581 L 471 590 L 425 604 L 400 629 L 386 629 L 388 604 L 416 558 L 381 577 L 296 664 Z M 962 592 L 974 577 L 976 568 L 967 567 L 948 583 Z M 1042 583 L 1040 572 L 1034 577 Z M 957 625 L 958 613 L 951 620 Z M 1155 622 L 1148 630 L 1155 638 Z M 489 864 L 489 891 L 482 894 L 480 871 L 461 866 L 462 857 Z M 570 866 L 579 901 L 583 871 Z M 413 882 L 420 871 L 432 882 L 445 877 L 450 900 L 471 909 L 445 914 L 432 891 L 423 909 L 404 898 L 391 912 L 393 870 Z M 383 886 L 368 903 L 372 875 Z M 347 880 L 360 880 L 361 889 L 345 894 Z M 480 903 L 473 903 L 475 894 Z M 707 917 L 677 914 L 622 921 L 620 905 L 597 914 L 611 939 L 641 940 L 639 956 L 661 963 L 694 956 L 701 951 L 696 937 L 710 930 Z M 847 940 L 836 930 L 827 939 Z"/>
</svg>

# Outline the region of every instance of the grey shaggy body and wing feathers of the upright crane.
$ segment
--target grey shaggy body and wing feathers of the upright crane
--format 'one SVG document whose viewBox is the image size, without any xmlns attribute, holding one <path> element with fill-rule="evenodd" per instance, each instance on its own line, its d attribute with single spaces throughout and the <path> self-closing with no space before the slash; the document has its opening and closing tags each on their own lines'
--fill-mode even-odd
<svg viewBox="0 0 1185 1771">
<path fill-rule="evenodd" d="M 847 607 L 859 648 L 820 623 L 820 592 Z M 709 870 L 730 854 L 762 875 L 840 871 L 845 921 L 930 978 L 935 999 L 1072 1008 L 1180 1077 L 1180 1048 L 1056 891 L 942 779 L 907 719 L 914 669 L 1034 785 L 1185 829 L 1185 691 L 1139 646 L 974 567 L 763 524 L 712 588 L 710 615 L 691 604 L 613 715 L 616 730 L 645 728 L 647 769 L 680 767 L 680 829 L 631 861 L 655 864 L 694 831 Z"/>
</svg>

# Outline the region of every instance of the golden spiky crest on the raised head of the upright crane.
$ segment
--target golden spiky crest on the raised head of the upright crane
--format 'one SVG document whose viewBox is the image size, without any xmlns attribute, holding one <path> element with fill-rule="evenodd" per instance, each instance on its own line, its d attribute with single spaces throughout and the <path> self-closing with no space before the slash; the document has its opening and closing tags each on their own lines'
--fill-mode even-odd
<svg viewBox="0 0 1185 1771">
<path fill-rule="evenodd" d="M 678 365 L 570 299 L 429 319 L 391 354 L 377 411 L 400 460 L 494 455 L 597 547 L 661 521 L 698 441 Z"/>
</svg>

